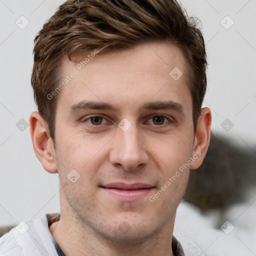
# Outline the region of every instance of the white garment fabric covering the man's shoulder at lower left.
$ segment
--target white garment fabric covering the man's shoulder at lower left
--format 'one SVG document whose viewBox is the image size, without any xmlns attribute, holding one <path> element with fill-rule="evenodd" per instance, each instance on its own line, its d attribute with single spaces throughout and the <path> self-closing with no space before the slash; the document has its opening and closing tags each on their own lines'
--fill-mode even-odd
<svg viewBox="0 0 256 256">
<path fill-rule="evenodd" d="M 0 256 L 57 256 L 50 236 L 46 214 L 40 219 L 20 221 L 0 237 Z"/>
</svg>

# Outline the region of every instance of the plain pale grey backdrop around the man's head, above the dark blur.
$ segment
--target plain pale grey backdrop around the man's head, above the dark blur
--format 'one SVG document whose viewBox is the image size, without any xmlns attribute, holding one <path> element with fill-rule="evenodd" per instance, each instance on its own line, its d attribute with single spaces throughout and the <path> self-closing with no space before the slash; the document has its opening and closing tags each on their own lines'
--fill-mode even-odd
<svg viewBox="0 0 256 256">
<path fill-rule="evenodd" d="M 62 2 L 0 0 L 0 225 L 59 212 L 58 176 L 36 158 L 29 127 L 20 131 L 16 123 L 28 122 L 36 110 L 30 85 L 33 39 Z M 202 22 L 209 64 L 204 106 L 212 110 L 212 130 L 244 148 L 255 146 L 256 1 L 181 3 Z M 15 23 L 21 15 L 29 21 L 24 29 Z M 226 15 L 234 22 L 229 29 L 221 24 L 231 24 Z M 221 127 L 226 118 L 234 124 L 229 131 Z"/>
</svg>

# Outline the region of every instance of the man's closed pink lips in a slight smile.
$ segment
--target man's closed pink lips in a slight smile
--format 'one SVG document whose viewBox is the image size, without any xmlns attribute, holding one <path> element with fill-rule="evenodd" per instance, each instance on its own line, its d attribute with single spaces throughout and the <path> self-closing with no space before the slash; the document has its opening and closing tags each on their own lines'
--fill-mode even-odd
<svg viewBox="0 0 256 256">
<path fill-rule="evenodd" d="M 146 183 L 126 184 L 122 182 L 103 184 L 100 188 L 119 200 L 134 201 L 147 196 L 155 186 Z"/>
</svg>

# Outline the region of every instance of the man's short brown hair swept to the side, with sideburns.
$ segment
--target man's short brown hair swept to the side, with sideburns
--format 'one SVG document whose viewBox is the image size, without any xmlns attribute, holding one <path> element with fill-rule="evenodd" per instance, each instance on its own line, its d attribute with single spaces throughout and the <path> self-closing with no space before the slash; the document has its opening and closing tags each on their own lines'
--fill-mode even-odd
<svg viewBox="0 0 256 256">
<path fill-rule="evenodd" d="M 39 113 L 54 140 L 61 60 L 95 49 L 125 49 L 141 42 L 170 40 L 187 61 L 193 127 L 206 90 L 206 53 L 198 19 L 189 17 L 176 0 L 67 0 L 45 22 L 34 39 L 31 84 Z"/>
</svg>

